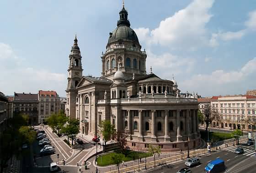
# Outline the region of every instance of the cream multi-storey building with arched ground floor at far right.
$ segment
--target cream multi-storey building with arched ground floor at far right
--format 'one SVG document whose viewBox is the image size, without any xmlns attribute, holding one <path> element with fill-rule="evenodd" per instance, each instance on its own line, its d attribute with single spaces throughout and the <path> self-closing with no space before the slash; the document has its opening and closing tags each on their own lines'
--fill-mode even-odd
<svg viewBox="0 0 256 173">
<path fill-rule="evenodd" d="M 227 129 L 256 130 L 256 96 L 234 95 L 211 98 L 211 109 L 219 116 L 211 126 Z"/>
</svg>

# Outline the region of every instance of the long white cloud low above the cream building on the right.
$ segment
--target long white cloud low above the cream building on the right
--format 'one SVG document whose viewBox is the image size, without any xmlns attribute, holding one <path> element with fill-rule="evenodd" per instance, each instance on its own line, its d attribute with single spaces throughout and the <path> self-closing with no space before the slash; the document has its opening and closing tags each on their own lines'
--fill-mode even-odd
<svg viewBox="0 0 256 173">
<path fill-rule="evenodd" d="M 255 66 L 256 58 L 253 58 L 238 71 L 216 70 L 211 74 L 197 74 L 192 76 L 189 80 L 181 82 L 180 86 L 186 86 L 198 91 L 203 91 L 205 88 L 220 88 L 219 91 L 221 91 L 222 89 L 227 89 L 227 87 L 224 87 L 225 85 L 244 81 L 247 76 L 255 74 Z"/>
</svg>

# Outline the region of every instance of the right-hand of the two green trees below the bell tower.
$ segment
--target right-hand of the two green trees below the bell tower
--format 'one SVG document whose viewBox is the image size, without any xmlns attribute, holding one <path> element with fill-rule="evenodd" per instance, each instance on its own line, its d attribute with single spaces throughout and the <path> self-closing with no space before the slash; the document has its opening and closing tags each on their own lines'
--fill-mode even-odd
<svg viewBox="0 0 256 173">
<path fill-rule="evenodd" d="M 71 138 L 71 145 L 73 145 L 74 137 L 80 132 L 79 120 L 69 119 L 68 124 L 62 128 L 61 132 Z"/>
</svg>

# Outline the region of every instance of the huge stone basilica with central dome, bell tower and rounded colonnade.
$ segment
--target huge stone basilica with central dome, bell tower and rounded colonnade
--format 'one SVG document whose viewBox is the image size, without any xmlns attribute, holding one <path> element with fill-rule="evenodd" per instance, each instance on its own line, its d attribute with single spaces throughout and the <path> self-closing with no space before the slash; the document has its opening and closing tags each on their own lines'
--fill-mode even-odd
<svg viewBox="0 0 256 173">
<path fill-rule="evenodd" d="M 101 136 L 98 124 L 110 120 L 118 132 L 128 134 L 127 147 L 133 150 L 146 151 L 152 144 L 171 152 L 200 144 L 197 98 L 182 97 L 174 77 L 161 79 L 152 68 L 147 73 L 146 51 L 141 51 L 130 28 L 124 5 L 101 56 L 101 76 L 83 76 L 81 58 L 75 36 L 69 55 L 66 114 L 80 120 L 81 133 Z"/>
</svg>

